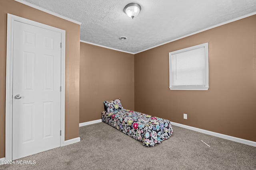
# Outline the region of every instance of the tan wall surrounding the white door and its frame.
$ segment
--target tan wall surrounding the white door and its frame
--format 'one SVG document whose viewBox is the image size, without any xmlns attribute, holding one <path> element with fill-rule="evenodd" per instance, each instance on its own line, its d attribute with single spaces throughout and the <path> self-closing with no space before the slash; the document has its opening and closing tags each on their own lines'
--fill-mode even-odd
<svg viewBox="0 0 256 170">
<path fill-rule="evenodd" d="M 66 30 L 65 140 L 79 137 L 80 25 L 14 0 L 0 0 L 0 158 L 5 157 L 5 78 L 7 13 Z"/>
</svg>

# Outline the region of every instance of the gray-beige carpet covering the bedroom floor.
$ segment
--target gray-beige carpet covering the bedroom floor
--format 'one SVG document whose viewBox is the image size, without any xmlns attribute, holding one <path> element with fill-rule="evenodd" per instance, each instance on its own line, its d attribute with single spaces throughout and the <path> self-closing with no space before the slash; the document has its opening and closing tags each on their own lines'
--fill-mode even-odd
<svg viewBox="0 0 256 170">
<path fill-rule="evenodd" d="M 0 165 L 0 169 L 256 170 L 256 147 L 182 127 L 173 130 L 170 139 L 143 147 L 110 125 L 96 123 L 80 127 L 79 143 L 20 159 L 35 160 L 35 165 Z"/>
</svg>

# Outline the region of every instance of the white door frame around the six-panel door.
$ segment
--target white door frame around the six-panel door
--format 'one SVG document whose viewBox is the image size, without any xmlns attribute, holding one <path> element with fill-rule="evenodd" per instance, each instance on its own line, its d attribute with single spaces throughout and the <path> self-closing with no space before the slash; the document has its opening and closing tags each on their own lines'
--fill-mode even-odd
<svg viewBox="0 0 256 170">
<path fill-rule="evenodd" d="M 28 20 L 12 14 L 7 14 L 6 39 L 6 100 L 5 100 L 5 160 L 12 160 L 12 76 L 13 76 L 13 32 L 14 21 L 19 21 L 61 33 L 61 86 L 60 93 L 60 146 L 65 141 L 65 42 L 66 31 L 36 21 Z"/>
</svg>

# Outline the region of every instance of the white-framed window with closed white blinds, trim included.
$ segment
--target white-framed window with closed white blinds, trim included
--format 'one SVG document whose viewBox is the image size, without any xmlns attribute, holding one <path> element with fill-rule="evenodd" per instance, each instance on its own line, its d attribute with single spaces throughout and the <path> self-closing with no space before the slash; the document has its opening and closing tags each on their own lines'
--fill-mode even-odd
<svg viewBox="0 0 256 170">
<path fill-rule="evenodd" d="M 170 90 L 208 90 L 208 43 L 169 53 Z"/>
</svg>

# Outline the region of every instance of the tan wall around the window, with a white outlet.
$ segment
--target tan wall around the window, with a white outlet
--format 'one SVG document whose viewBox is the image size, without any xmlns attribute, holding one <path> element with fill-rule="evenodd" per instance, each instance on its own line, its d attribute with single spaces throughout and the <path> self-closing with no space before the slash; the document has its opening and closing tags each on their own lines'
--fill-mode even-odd
<svg viewBox="0 0 256 170">
<path fill-rule="evenodd" d="M 209 90 L 170 90 L 168 53 L 206 42 Z M 136 111 L 256 141 L 256 15 L 138 53 L 134 60 Z"/>
</svg>

